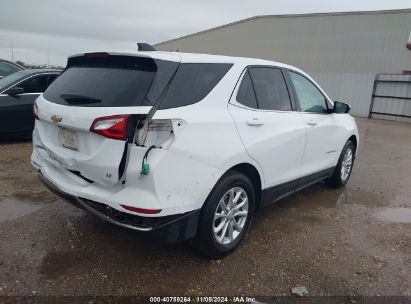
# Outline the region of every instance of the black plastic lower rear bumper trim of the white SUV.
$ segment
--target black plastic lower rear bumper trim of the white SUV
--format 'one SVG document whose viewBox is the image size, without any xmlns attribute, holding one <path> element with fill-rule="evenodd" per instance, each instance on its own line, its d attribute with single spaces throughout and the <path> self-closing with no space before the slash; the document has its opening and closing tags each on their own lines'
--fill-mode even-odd
<svg viewBox="0 0 411 304">
<path fill-rule="evenodd" d="M 167 243 L 181 242 L 194 237 L 197 233 L 200 209 L 162 217 L 132 215 L 108 205 L 66 193 L 48 180 L 41 171 L 38 172 L 38 176 L 50 191 L 65 201 L 109 223 L 144 233 L 146 236 L 155 237 Z"/>
</svg>

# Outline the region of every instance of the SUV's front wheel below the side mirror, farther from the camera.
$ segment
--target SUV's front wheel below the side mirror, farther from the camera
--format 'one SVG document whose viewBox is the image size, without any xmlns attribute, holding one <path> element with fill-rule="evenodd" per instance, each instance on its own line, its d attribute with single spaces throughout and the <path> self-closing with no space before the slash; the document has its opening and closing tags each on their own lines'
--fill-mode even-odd
<svg viewBox="0 0 411 304">
<path fill-rule="evenodd" d="M 347 184 L 350 179 L 355 159 L 355 145 L 349 140 L 346 142 L 338 159 L 333 175 L 325 180 L 328 186 L 340 188 Z"/>
</svg>

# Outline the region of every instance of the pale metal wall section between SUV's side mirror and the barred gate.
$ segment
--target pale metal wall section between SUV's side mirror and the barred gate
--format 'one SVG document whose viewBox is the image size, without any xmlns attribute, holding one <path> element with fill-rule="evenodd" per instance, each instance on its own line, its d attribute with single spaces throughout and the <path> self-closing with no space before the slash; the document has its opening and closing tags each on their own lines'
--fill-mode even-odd
<svg viewBox="0 0 411 304">
<path fill-rule="evenodd" d="M 351 114 L 367 117 L 375 74 L 310 73 L 332 100 L 351 105 Z"/>
</svg>

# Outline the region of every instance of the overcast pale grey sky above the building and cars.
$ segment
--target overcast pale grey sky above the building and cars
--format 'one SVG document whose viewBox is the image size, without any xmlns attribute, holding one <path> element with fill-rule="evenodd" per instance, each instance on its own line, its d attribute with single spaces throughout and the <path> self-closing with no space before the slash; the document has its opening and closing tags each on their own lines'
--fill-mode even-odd
<svg viewBox="0 0 411 304">
<path fill-rule="evenodd" d="M 257 15 L 411 8 L 410 0 L 2 0 L 0 58 L 65 66 L 90 51 L 136 51 Z M 13 52 L 12 52 L 13 50 Z"/>
</svg>

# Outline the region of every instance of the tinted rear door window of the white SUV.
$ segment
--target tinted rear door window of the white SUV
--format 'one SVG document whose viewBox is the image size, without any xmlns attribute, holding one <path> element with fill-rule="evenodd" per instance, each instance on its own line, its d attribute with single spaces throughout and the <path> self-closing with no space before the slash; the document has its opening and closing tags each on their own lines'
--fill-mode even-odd
<svg viewBox="0 0 411 304">
<path fill-rule="evenodd" d="M 249 69 L 258 108 L 291 111 L 291 100 L 281 69 L 256 67 Z"/>
</svg>

